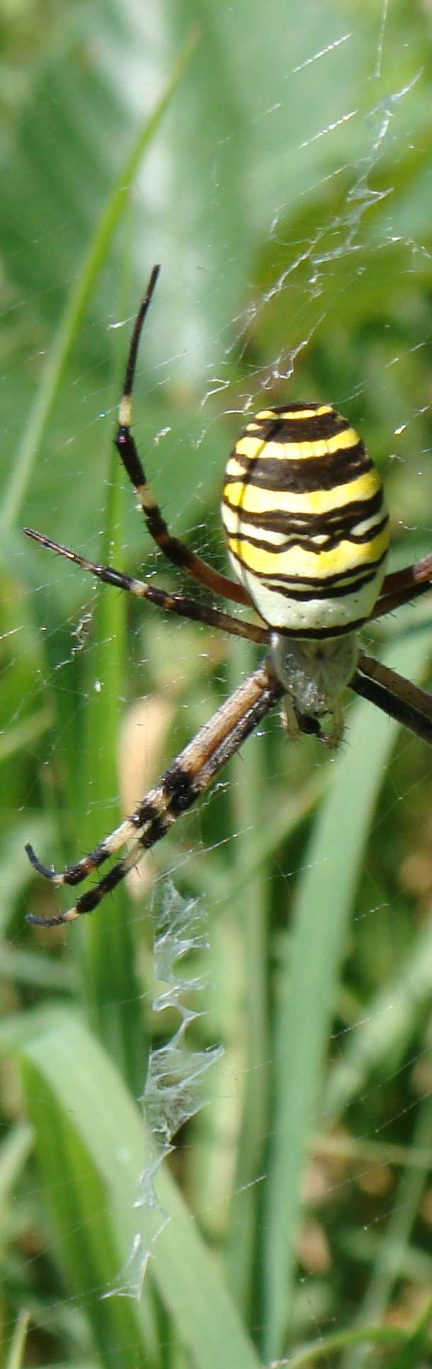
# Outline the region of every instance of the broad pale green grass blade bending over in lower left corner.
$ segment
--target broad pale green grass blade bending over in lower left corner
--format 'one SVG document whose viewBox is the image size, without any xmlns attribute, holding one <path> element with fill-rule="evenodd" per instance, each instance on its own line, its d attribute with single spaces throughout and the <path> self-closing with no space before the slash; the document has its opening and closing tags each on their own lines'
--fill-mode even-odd
<svg viewBox="0 0 432 1369">
<path fill-rule="evenodd" d="M 142 1118 L 105 1051 L 77 1019 L 52 1012 L 34 1014 L 27 1025 L 25 1035 L 16 1023 L 15 1053 L 67 1287 L 97 1327 L 107 1362 L 109 1347 L 122 1344 L 124 1365 L 137 1365 L 137 1357 L 146 1364 L 145 1303 L 100 1301 L 142 1224 L 142 1210 L 134 1207 L 145 1162 Z M 1 1032 L 0 1050 L 10 1050 L 11 1043 L 14 1049 L 14 1024 Z M 197 1369 L 220 1369 L 221 1364 L 258 1369 L 231 1296 L 167 1168 L 159 1173 L 157 1197 L 170 1221 L 152 1251 L 152 1277 L 179 1343 Z"/>
</svg>

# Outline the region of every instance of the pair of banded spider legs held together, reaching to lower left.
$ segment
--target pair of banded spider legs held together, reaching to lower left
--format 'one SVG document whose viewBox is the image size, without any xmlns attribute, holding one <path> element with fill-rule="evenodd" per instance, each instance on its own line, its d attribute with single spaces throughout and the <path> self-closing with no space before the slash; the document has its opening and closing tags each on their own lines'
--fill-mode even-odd
<svg viewBox="0 0 432 1369">
<path fill-rule="evenodd" d="M 90 871 L 97 869 L 115 850 L 130 838 L 130 850 L 103 879 L 86 894 L 78 898 L 74 908 L 55 917 L 27 914 L 27 921 L 42 927 L 56 927 L 72 921 L 82 913 L 90 913 L 105 894 L 116 887 L 127 871 L 137 864 L 146 850 L 159 842 L 180 813 L 195 802 L 200 794 L 213 783 L 219 771 L 238 750 L 246 737 L 257 727 L 265 713 L 282 694 L 282 686 L 273 678 L 265 660 L 228 700 L 217 709 L 209 723 L 197 732 L 193 742 L 180 752 L 164 772 L 160 783 L 138 804 L 133 817 L 120 823 L 109 836 L 104 838 L 89 856 L 62 873 L 46 869 L 37 860 L 31 847 L 27 854 L 34 868 L 55 884 L 78 884 Z"/>
</svg>

